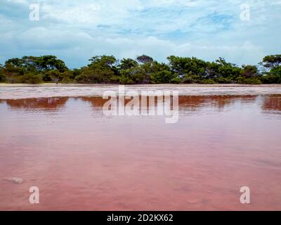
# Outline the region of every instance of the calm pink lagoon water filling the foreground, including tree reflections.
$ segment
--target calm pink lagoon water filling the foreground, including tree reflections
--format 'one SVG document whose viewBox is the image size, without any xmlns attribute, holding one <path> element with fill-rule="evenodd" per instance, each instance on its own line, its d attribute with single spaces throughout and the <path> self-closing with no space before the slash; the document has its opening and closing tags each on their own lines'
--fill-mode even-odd
<svg viewBox="0 0 281 225">
<path fill-rule="evenodd" d="M 281 210 L 281 95 L 180 96 L 176 124 L 105 101 L 0 100 L 0 210 Z"/>
</svg>

